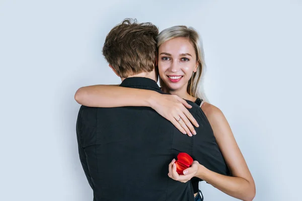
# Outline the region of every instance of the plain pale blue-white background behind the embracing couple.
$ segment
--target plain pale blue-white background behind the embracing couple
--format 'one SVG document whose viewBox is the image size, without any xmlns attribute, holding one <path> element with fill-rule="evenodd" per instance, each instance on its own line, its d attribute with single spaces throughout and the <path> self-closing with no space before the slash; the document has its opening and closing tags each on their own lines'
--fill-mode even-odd
<svg viewBox="0 0 302 201">
<path fill-rule="evenodd" d="M 301 1 L 1 0 L 0 200 L 92 200 L 73 95 L 120 82 L 101 50 L 125 18 L 200 33 L 205 91 L 233 129 L 254 200 L 301 199 Z M 236 200 L 200 188 L 207 201 Z"/>
</svg>

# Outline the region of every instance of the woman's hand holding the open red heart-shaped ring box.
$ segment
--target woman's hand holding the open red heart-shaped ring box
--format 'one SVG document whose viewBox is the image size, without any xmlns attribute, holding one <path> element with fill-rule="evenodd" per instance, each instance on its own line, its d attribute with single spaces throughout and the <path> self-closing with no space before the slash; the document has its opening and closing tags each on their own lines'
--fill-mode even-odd
<svg viewBox="0 0 302 201">
<path fill-rule="evenodd" d="M 168 176 L 176 181 L 180 182 L 187 182 L 189 181 L 192 177 L 196 176 L 198 173 L 198 170 L 200 168 L 200 164 L 198 161 L 194 160 L 191 167 L 185 169 L 183 171 L 184 175 L 179 175 L 176 171 L 176 164 L 175 164 L 175 159 L 172 160 L 172 162 L 169 164 L 169 173 Z"/>
</svg>

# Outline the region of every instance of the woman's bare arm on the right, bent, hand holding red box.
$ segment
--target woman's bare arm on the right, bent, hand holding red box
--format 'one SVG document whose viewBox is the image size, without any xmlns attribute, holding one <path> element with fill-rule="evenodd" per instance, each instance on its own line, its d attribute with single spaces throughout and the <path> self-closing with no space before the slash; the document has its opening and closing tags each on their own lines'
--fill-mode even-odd
<svg viewBox="0 0 302 201">
<path fill-rule="evenodd" d="M 242 200 L 253 200 L 256 194 L 254 179 L 236 143 L 228 121 L 218 108 L 210 104 L 204 104 L 202 109 L 209 120 L 216 142 L 233 176 L 213 172 L 197 161 L 194 161 L 190 168 L 184 170 L 185 175 L 177 174 L 176 166 L 172 161 L 169 165 L 169 176 L 182 182 L 197 176 L 226 194 Z"/>
</svg>

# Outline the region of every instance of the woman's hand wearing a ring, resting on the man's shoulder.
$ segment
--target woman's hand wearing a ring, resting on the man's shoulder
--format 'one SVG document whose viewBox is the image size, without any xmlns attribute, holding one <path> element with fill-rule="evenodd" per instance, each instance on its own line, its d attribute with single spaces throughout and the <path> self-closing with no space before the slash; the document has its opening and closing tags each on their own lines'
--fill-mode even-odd
<svg viewBox="0 0 302 201">
<path fill-rule="evenodd" d="M 189 136 L 196 135 L 193 125 L 195 127 L 199 127 L 199 125 L 187 110 L 192 106 L 186 100 L 178 95 L 159 94 L 150 97 L 149 103 L 156 112 L 169 120 L 180 132 Z"/>
</svg>

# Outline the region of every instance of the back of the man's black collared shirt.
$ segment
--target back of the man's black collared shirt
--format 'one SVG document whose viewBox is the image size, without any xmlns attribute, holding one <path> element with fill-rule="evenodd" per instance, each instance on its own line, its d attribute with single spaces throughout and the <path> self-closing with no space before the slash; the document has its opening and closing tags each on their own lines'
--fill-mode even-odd
<svg viewBox="0 0 302 201">
<path fill-rule="evenodd" d="M 156 82 L 147 78 L 127 78 L 121 85 L 161 92 Z M 190 112 L 197 109 L 193 106 Z M 82 106 L 77 122 L 79 153 L 95 200 L 193 200 L 191 183 L 175 181 L 167 174 L 169 163 L 179 152 L 192 155 L 201 164 L 213 158 L 202 156 L 194 145 L 205 131 L 204 122 L 198 123 L 201 126 L 193 138 L 151 108 Z M 212 140 L 214 137 L 208 144 Z M 214 166 L 220 165 L 219 157 Z"/>
</svg>

